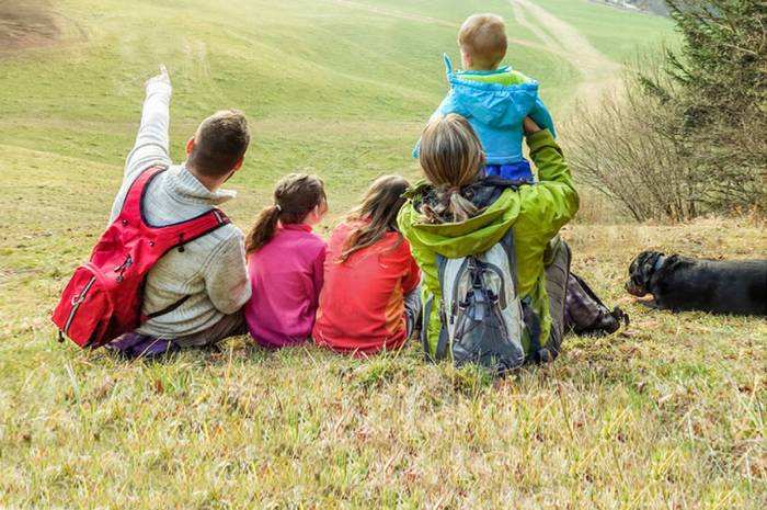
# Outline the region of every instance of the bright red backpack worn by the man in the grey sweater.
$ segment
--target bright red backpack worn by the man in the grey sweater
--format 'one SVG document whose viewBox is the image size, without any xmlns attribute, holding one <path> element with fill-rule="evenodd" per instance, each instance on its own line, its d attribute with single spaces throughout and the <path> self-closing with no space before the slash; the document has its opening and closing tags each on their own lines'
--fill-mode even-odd
<svg viewBox="0 0 767 510">
<path fill-rule="evenodd" d="M 141 202 L 149 183 L 165 171 L 152 167 L 130 185 L 117 219 L 99 239 L 91 260 L 80 265 L 54 311 L 59 340 L 66 335 L 81 348 L 98 348 L 133 331 L 151 317 L 172 311 L 188 296 L 161 310 L 141 315 L 144 282 L 162 256 L 229 223 L 217 208 L 164 227 L 149 225 Z"/>
</svg>

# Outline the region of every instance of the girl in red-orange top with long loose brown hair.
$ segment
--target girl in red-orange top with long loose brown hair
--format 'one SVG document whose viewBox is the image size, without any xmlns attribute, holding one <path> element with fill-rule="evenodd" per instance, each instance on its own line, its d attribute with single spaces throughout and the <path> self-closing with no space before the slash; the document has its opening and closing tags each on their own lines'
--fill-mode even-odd
<svg viewBox="0 0 767 510">
<path fill-rule="evenodd" d="M 397 229 L 408 181 L 378 179 L 331 236 L 312 336 L 340 352 L 399 349 L 420 313 L 421 273 Z"/>
</svg>

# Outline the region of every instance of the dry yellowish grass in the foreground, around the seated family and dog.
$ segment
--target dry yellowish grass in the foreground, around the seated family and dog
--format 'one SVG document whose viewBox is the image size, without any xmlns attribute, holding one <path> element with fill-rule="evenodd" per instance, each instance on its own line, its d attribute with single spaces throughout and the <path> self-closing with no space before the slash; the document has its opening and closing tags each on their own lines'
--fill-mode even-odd
<svg viewBox="0 0 767 510">
<path fill-rule="evenodd" d="M 125 363 L 57 343 L 48 322 L 118 170 L 7 146 L 0 158 L 11 161 L 0 185 L 0 507 L 767 502 L 765 320 L 652 311 L 622 292 L 641 249 L 754 257 L 767 251 L 764 225 L 566 228 L 575 271 L 631 326 L 570 338 L 554 364 L 504 381 L 426 364 L 414 344 L 360 361 L 242 338 L 220 353 Z M 242 223 L 251 207 L 239 201 L 232 216 Z"/>
</svg>

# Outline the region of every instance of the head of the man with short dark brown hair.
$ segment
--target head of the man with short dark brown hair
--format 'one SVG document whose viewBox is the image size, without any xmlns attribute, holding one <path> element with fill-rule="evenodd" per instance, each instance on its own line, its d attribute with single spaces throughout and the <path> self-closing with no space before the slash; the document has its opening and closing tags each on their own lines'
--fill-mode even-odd
<svg viewBox="0 0 767 510">
<path fill-rule="evenodd" d="M 248 144 L 250 129 L 244 114 L 222 110 L 199 124 L 186 162 L 202 175 L 224 177 L 244 157 Z"/>
</svg>

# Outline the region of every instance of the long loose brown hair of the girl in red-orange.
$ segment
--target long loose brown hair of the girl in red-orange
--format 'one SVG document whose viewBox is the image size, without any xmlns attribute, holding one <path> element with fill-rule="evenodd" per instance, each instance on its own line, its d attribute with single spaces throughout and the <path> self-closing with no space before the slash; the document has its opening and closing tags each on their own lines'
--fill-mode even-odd
<svg viewBox="0 0 767 510">
<path fill-rule="evenodd" d="M 402 194 L 410 183 L 400 175 L 384 175 L 376 179 L 365 193 L 359 205 L 350 211 L 347 220 L 362 219 L 367 223 L 357 227 L 346 239 L 339 262 L 345 262 L 355 251 L 378 242 L 387 233 L 396 231 L 397 213 L 404 204 Z M 402 234 L 392 249 L 402 243 Z"/>
</svg>

